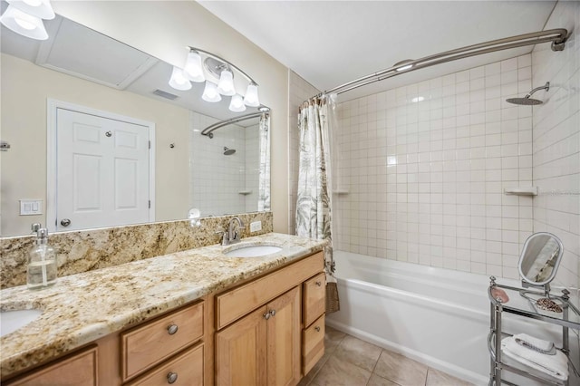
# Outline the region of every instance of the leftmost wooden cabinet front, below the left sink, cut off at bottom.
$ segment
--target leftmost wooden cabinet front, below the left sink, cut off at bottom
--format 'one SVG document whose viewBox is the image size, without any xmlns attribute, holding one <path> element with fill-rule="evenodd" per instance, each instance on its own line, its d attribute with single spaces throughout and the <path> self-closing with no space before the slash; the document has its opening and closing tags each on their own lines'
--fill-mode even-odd
<svg viewBox="0 0 580 386">
<path fill-rule="evenodd" d="M 57 360 L 36 370 L 24 378 L 8 381 L 6 386 L 96 386 L 97 381 L 97 347 Z"/>
</svg>

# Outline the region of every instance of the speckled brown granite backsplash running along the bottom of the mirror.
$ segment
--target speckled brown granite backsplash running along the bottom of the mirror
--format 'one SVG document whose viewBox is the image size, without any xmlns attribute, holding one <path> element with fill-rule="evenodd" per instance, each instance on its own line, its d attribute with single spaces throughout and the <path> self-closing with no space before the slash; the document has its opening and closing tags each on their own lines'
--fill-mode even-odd
<svg viewBox="0 0 580 386">
<path fill-rule="evenodd" d="M 253 221 L 262 221 L 262 230 L 251 236 L 273 232 L 272 212 L 254 212 L 201 218 L 200 227 L 190 227 L 188 220 L 181 220 L 54 233 L 49 235 L 49 243 L 56 249 L 58 275 L 67 276 L 218 244 L 216 232 L 226 230 L 232 217 L 240 217 L 247 225 L 242 237 L 250 236 L 249 223 Z M 0 238 L 0 288 L 26 284 L 27 256 L 34 239 Z"/>
</svg>

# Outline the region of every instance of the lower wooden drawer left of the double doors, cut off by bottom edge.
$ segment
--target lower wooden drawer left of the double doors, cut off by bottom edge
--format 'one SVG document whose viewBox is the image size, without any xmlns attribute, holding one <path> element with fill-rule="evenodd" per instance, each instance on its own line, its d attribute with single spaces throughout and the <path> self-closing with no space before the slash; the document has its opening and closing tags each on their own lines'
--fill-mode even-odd
<svg viewBox="0 0 580 386">
<path fill-rule="evenodd" d="M 158 369 L 131 382 L 130 386 L 202 386 L 204 346 L 200 344 L 160 365 Z"/>
</svg>

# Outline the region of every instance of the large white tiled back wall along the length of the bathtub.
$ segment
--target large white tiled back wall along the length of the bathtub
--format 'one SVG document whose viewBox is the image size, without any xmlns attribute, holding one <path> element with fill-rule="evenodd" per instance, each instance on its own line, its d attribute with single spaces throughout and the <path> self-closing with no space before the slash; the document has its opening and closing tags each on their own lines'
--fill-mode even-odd
<svg viewBox="0 0 580 386">
<path fill-rule="evenodd" d="M 517 278 L 533 201 L 503 189 L 532 185 L 532 109 L 505 99 L 531 77 L 527 54 L 340 104 L 334 246 Z"/>
</svg>

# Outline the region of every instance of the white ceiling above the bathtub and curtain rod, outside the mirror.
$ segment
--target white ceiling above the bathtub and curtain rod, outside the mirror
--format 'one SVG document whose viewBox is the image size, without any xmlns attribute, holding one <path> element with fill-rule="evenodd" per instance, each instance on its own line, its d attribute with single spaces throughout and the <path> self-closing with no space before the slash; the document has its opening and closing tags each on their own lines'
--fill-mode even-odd
<svg viewBox="0 0 580 386">
<path fill-rule="evenodd" d="M 199 1 L 321 91 L 474 43 L 541 31 L 556 1 Z M 532 46 L 405 73 L 341 95 L 357 98 L 493 63 Z M 259 75 L 256 76 L 259 82 Z"/>
</svg>

